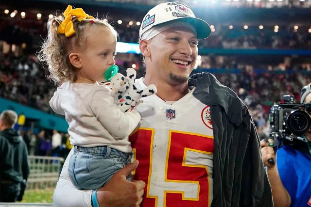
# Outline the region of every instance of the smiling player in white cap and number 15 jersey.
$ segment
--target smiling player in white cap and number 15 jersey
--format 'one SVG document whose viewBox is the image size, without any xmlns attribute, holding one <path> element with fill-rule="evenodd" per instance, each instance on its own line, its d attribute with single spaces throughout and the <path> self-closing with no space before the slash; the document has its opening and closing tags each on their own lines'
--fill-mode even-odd
<svg viewBox="0 0 311 207">
<path fill-rule="evenodd" d="M 181 2 L 161 3 L 147 13 L 139 30 L 146 76 L 137 85 L 155 84 L 157 94 L 138 105 L 141 121 L 129 138 L 139 166 L 125 166 L 96 193 L 73 189 L 65 163 L 55 206 L 272 206 L 246 106 L 211 74 L 188 81 L 198 39 L 209 35 L 208 24 Z M 132 170 L 134 182 L 125 181 Z M 65 191 L 75 201 L 68 202 Z"/>
</svg>

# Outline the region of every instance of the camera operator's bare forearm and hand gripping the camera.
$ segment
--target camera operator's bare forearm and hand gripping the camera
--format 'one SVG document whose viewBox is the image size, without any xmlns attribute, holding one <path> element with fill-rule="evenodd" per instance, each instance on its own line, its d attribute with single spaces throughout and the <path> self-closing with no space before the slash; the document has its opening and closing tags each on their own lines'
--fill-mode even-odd
<svg viewBox="0 0 311 207">
<path fill-rule="evenodd" d="M 276 164 L 268 162 L 268 159 L 270 158 L 276 160 L 275 152 L 265 141 L 261 141 L 260 146 L 262 147 L 261 154 L 263 164 L 267 166 L 267 174 L 272 189 L 275 207 L 289 207 L 291 205 L 291 196 L 283 186 Z"/>
</svg>

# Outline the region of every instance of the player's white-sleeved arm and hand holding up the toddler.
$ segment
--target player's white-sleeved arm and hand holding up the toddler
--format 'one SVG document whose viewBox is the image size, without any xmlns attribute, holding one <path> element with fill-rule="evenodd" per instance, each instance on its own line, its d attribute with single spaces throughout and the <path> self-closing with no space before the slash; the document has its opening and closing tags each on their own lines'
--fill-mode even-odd
<svg viewBox="0 0 311 207">
<path fill-rule="evenodd" d="M 73 153 L 71 149 L 56 185 L 53 194 L 54 207 L 91 207 L 92 191 L 77 190 L 68 174 L 69 158 Z M 97 200 L 101 207 L 139 207 L 142 201 L 143 181 L 127 181 L 126 176 L 135 170 L 138 162 L 126 165 L 112 176 L 104 187 L 98 189 Z"/>
</svg>

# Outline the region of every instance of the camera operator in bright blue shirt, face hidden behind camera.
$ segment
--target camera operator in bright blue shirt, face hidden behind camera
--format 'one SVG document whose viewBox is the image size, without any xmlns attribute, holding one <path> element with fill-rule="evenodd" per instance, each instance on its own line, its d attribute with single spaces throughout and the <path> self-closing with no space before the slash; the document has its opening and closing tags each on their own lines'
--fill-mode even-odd
<svg viewBox="0 0 311 207">
<path fill-rule="evenodd" d="M 310 101 L 311 83 L 301 91 L 301 103 Z M 311 128 L 303 136 L 308 140 L 307 143 L 297 141 L 298 144 L 290 145 L 284 142 L 276 155 L 269 143 L 260 142 L 275 207 L 311 206 Z M 271 158 L 275 163 L 268 162 Z"/>
</svg>

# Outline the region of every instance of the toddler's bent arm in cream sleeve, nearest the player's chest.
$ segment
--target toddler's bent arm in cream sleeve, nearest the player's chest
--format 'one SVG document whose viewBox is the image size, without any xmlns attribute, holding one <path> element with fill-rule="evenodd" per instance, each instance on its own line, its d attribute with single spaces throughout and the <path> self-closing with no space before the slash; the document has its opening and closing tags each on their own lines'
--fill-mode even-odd
<svg viewBox="0 0 311 207">
<path fill-rule="evenodd" d="M 97 120 L 116 139 L 130 135 L 140 121 L 137 111 L 122 112 L 114 103 L 110 91 L 96 89 L 90 99 L 91 111 Z"/>
</svg>

